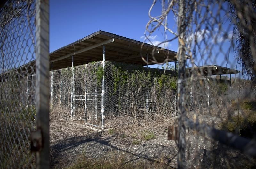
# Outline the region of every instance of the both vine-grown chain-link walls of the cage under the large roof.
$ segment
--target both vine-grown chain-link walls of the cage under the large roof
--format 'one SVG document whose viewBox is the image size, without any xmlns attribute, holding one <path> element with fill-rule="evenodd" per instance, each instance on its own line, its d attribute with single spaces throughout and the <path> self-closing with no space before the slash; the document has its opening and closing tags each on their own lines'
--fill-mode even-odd
<svg viewBox="0 0 256 169">
<path fill-rule="evenodd" d="M 113 125 L 112 122 L 120 116 L 127 118 L 126 123 L 138 123 L 150 116 L 176 116 L 175 71 L 164 73 L 161 69 L 147 70 L 141 65 L 115 62 L 106 62 L 105 70 L 102 62 L 96 62 L 50 72 L 52 104 L 69 109 L 72 103 L 76 119 L 85 118 L 87 123 L 100 126 L 103 74 L 105 127 Z"/>
</svg>

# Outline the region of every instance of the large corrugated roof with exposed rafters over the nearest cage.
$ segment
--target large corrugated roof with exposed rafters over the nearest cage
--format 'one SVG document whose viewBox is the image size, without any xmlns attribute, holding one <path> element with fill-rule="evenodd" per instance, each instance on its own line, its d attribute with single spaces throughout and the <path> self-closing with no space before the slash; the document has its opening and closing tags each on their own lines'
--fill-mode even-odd
<svg viewBox="0 0 256 169">
<path fill-rule="evenodd" d="M 168 59 L 169 61 L 176 60 L 176 52 L 156 47 L 147 43 L 143 43 L 134 39 L 126 38 L 124 36 L 116 35 L 110 32 L 97 31 L 82 39 L 79 39 L 71 44 L 61 47 L 50 53 L 50 61 L 53 62 L 53 69 L 60 69 L 71 66 L 71 55 L 78 50 L 89 48 L 90 46 L 100 44 L 108 39 L 114 38 L 115 42 L 105 44 L 106 46 L 106 60 L 107 61 L 120 61 L 126 63 L 134 63 L 146 65 L 142 60 L 141 54 L 146 59 L 146 53 L 149 53 L 150 64 L 155 64 L 151 55 L 152 51 L 159 51 L 155 53 L 155 60 L 163 62 Z M 102 60 L 102 46 L 97 46 L 88 51 L 75 54 L 74 66 L 86 64 L 92 61 Z M 62 57 L 62 58 L 61 58 Z M 63 58 L 66 57 L 66 58 Z M 58 59 L 59 58 L 59 59 Z M 60 60 L 61 59 L 61 60 Z"/>
</svg>

